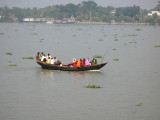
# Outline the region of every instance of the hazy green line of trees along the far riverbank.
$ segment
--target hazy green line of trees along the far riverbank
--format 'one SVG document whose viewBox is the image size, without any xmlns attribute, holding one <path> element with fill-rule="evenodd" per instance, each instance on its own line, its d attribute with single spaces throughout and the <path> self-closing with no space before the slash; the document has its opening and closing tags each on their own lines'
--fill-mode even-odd
<svg viewBox="0 0 160 120">
<path fill-rule="evenodd" d="M 160 10 L 160 1 L 155 7 Z M 119 7 L 98 6 L 94 1 L 83 1 L 77 5 L 69 3 L 67 5 L 54 5 L 45 8 L 0 8 L 0 22 L 22 22 L 23 18 L 54 18 L 60 20 L 74 16 L 77 21 L 94 22 L 147 22 L 146 18 L 149 11 L 142 10 L 139 6 Z M 152 21 L 153 22 L 153 21 Z"/>
</svg>

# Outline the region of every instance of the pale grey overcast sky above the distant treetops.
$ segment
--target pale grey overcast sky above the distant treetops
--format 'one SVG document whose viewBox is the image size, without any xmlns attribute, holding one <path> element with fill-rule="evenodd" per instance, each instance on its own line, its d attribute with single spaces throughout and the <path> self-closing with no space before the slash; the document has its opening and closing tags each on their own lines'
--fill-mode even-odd
<svg viewBox="0 0 160 120">
<path fill-rule="evenodd" d="M 20 7 L 20 8 L 44 8 L 46 6 L 66 5 L 68 3 L 78 4 L 84 0 L 0 0 L 0 7 Z M 160 0 L 94 0 L 99 6 L 107 7 L 125 7 L 125 6 L 140 6 L 142 9 L 150 10 L 156 7 Z"/>
</svg>

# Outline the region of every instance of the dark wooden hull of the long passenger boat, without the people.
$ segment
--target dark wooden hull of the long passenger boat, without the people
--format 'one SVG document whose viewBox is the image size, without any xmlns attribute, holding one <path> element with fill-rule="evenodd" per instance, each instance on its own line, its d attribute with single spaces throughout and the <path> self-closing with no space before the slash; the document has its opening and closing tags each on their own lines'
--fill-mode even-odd
<svg viewBox="0 0 160 120">
<path fill-rule="evenodd" d="M 95 64 L 95 65 L 89 65 L 85 67 L 69 67 L 67 65 L 52 65 L 52 64 L 47 64 L 45 62 L 37 61 L 37 63 L 42 66 L 43 69 L 49 69 L 49 70 L 61 70 L 61 71 L 87 71 L 87 70 L 99 70 L 103 66 L 107 64 L 106 63 L 101 63 L 101 64 Z"/>
</svg>

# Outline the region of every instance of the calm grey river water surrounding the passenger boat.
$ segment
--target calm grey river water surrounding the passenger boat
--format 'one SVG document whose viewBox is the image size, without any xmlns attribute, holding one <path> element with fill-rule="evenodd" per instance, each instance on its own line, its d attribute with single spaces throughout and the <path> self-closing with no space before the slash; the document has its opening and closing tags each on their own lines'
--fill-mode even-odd
<svg viewBox="0 0 160 120">
<path fill-rule="evenodd" d="M 157 45 L 159 26 L 1 23 L 0 119 L 159 120 Z M 63 72 L 22 59 L 38 51 L 62 63 L 102 55 L 108 64 L 96 72 Z"/>
</svg>

